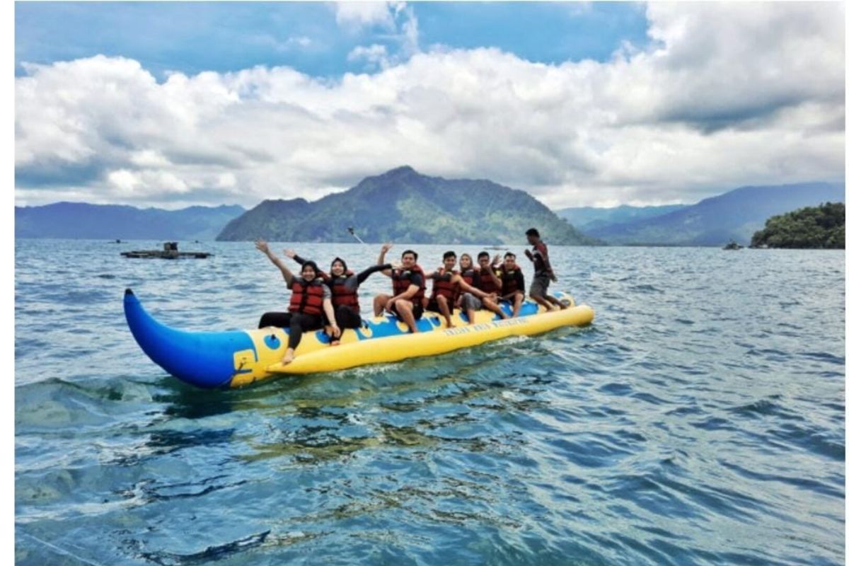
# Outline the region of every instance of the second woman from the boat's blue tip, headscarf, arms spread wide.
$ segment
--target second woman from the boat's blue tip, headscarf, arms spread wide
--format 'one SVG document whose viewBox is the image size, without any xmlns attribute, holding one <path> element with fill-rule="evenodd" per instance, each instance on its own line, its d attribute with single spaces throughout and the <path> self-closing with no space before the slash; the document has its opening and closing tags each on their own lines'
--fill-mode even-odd
<svg viewBox="0 0 849 566">
<path fill-rule="evenodd" d="M 294 249 L 286 249 L 284 254 L 301 265 L 306 263 L 306 260 L 300 255 L 297 255 Z M 340 329 L 339 337 L 331 339 L 330 345 L 339 345 L 346 328 L 360 328 L 363 326 L 363 318 L 360 317 L 360 298 L 357 294 L 357 289 L 372 273 L 380 272 L 383 269 L 391 269 L 391 267 L 391 264 L 387 263 L 382 266 L 371 266 L 363 272 L 354 273 L 348 269 L 348 264 L 345 260 L 336 257 L 330 263 L 329 273 L 318 272 L 318 276 L 330 288 L 330 294 L 332 295 L 330 300 L 333 303 L 336 322 Z M 325 328 L 325 332 L 330 336 L 329 324 Z"/>
</svg>

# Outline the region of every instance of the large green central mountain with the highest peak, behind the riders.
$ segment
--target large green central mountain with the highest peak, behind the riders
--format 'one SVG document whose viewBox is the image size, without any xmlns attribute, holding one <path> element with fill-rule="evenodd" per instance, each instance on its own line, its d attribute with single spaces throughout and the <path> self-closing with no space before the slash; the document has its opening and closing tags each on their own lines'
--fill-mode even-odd
<svg viewBox="0 0 849 566">
<path fill-rule="evenodd" d="M 404 166 L 315 202 L 265 200 L 219 240 L 520 244 L 536 227 L 548 244 L 599 244 L 530 194 L 492 181 L 427 177 Z"/>
</svg>

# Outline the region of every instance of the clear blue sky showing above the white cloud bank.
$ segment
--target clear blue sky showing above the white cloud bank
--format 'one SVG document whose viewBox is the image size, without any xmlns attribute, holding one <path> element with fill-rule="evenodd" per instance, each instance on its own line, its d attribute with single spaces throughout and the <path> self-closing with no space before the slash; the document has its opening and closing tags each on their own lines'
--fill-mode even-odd
<svg viewBox="0 0 849 566">
<path fill-rule="evenodd" d="M 419 48 L 500 48 L 542 63 L 610 59 L 644 45 L 642 3 L 413 3 Z M 332 3 L 15 3 L 15 74 L 21 62 L 96 54 L 138 60 L 161 78 L 254 65 L 310 76 L 374 71 L 348 53 L 361 44 L 401 49 L 385 25 L 340 26 Z"/>
</svg>

